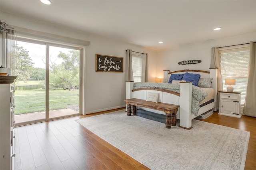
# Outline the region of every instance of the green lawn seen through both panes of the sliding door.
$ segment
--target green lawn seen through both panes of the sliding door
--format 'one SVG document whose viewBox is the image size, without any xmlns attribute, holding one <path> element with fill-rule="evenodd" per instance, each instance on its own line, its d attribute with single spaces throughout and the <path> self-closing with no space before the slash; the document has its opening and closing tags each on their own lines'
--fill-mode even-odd
<svg viewBox="0 0 256 170">
<path fill-rule="evenodd" d="M 15 114 L 45 111 L 45 90 L 16 90 Z M 79 105 L 79 90 L 50 90 L 49 109 Z"/>
</svg>

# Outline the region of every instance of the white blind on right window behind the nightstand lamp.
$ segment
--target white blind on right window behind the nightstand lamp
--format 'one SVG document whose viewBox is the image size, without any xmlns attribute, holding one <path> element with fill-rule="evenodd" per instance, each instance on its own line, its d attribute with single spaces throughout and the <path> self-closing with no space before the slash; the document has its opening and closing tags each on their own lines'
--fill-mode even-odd
<svg viewBox="0 0 256 170">
<path fill-rule="evenodd" d="M 236 85 L 232 86 L 235 92 L 241 92 L 241 104 L 243 105 L 248 81 L 249 47 L 219 50 L 219 55 L 223 89 L 225 90 L 228 86 L 225 85 L 225 79 L 235 78 Z"/>
</svg>

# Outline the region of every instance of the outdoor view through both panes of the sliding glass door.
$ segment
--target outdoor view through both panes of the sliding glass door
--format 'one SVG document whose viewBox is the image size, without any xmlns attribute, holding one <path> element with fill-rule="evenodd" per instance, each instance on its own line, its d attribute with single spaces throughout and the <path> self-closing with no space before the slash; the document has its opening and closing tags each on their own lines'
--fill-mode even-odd
<svg viewBox="0 0 256 170">
<path fill-rule="evenodd" d="M 79 114 L 78 48 L 17 41 L 14 74 L 16 125 Z"/>
</svg>

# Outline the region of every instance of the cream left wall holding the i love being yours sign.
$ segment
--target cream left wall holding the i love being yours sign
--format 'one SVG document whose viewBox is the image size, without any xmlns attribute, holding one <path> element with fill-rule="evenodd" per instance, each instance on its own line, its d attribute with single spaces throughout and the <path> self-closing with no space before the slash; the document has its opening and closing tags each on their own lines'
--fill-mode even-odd
<svg viewBox="0 0 256 170">
<path fill-rule="evenodd" d="M 125 106 L 126 49 L 148 53 L 149 81 L 155 81 L 156 52 L 150 49 L 4 13 L 1 13 L 1 20 L 17 27 L 90 41 L 91 44 L 86 50 L 86 70 L 84 72 L 86 77 L 85 113 L 94 113 Z M 95 72 L 95 54 L 124 57 L 124 72 Z M 110 98 L 112 98 L 112 102 L 109 102 Z"/>
</svg>

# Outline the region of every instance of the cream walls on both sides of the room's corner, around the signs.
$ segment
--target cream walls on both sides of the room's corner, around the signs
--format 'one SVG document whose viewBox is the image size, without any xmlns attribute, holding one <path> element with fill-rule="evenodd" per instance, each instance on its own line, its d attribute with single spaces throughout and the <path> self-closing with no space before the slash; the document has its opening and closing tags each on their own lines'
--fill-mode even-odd
<svg viewBox="0 0 256 170">
<path fill-rule="evenodd" d="M 86 70 L 84 72 L 86 77 L 86 113 L 124 106 L 126 49 L 148 53 L 149 82 L 155 82 L 155 77 L 163 77 L 163 70 L 208 70 L 210 68 L 211 47 L 223 47 L 256 41 L 256 32 L 254 32 L 225 39 L 194 43 L 174 49 L 152 51 L 137 45 L 66 29 L 56 25 L 49 25 L 48 23 L 28 20 L 19 16 L 10 16 L 1 13 L 1 20 L 7 21 L 9 25 L 90 41 L 91 44 L 86 50 Z M 124 57 L 124 72 L 95 72 L 95 54 Z M 179 61 L 193 59 L 201 60 L 202 63 L 189 65 L 178 64 Z M 112 98 L 112 102 L 109 102 L 110 98 Z"/>
</svg>

